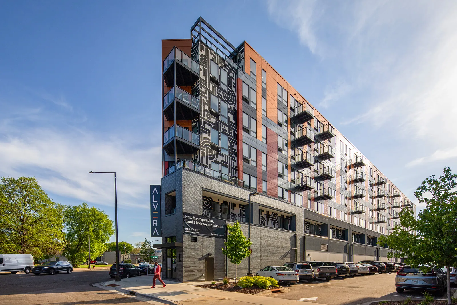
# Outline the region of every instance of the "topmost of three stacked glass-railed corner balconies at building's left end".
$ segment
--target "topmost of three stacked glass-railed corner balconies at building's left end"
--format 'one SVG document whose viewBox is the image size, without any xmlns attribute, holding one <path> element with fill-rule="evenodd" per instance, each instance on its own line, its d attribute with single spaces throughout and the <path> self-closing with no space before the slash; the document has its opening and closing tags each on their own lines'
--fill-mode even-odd
<svg viewBox="0 0 457 305">
<path fill-rule="evenodd" d="M 200 65 L 180 49 L 174 47 L 164 59 L 164 81 L 167 87 L 193 86 L 200 78 Z M 174 73 L 176 66 L 176 83 Z"/>
</svg>

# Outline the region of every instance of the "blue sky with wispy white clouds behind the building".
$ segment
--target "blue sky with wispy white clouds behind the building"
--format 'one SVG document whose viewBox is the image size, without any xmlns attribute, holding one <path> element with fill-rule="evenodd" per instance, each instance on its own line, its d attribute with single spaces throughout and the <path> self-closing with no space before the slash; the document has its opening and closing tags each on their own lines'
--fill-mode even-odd
<svg viewBox="0 0 457 305">
<path fill-rule="evenodd" d="M 151 240 L 161 39 L 190 37 L 198 16 L 250 43 L 409 198 L 455 167 L 456 2 L 195 3 L 0 1 L 0 176 L 114 219 L 112 177 L 87 171 L 117 171 L 119 239 Z"/>
</svg>

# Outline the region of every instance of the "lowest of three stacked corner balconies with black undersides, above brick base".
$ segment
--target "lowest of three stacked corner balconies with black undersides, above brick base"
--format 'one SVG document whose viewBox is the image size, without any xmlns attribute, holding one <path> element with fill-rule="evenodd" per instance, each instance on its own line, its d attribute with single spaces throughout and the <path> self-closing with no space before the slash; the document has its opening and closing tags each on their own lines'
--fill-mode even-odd
<svg viewBox="0 0 457 305">
<path fill-rule="evenodd" d="M 200 149 L 200 135 L 179 125 L 173 125 L 164 133 L 164 150 L 168 155 L 193 154 Z"/>
</svg>

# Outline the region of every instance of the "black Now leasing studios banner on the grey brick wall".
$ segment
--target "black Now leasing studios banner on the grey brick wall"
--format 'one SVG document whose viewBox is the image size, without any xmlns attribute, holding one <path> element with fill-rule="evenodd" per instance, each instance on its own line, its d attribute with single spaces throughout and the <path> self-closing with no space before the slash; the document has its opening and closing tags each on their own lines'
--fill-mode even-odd
<svg viewBox="0 0 457 305">
<path fill-rule="evenodd" d="M 184 234 L 225 238 L 225 220 L 204 215 L 182 213 Z"/>
</svg>

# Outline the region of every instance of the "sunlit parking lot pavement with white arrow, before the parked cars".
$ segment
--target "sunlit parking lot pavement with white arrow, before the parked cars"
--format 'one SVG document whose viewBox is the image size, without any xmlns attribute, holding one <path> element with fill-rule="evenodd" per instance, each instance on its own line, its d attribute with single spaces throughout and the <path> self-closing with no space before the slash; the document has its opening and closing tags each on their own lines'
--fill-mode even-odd
<svg viewBox="0 0 457 305">
<path fill-rule="evenodd" d="M 422 300 L 423 295 L 418 291 L 405 290 L 403 294 L 395 291 L 395 276 L 392 274 L 374 274 L 354 278 L 334 278 L 331 281 L 316 279 L 313 283 L 300 282 L 295 285 L 283 285 L 290 289 L 287 293 L 270 294 L 272 298 L 289 300 L 303 300 L 329 305 L 363 304 L 370 301 L 382 300 L 405 300 L 411 297 L 413 300 Z M 452 292 L 456 290 L 452 286 Z M 436 299 L 446 299 L 437 297 Z"/>
</svg>

